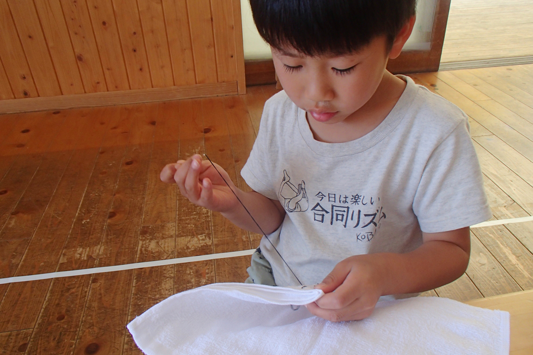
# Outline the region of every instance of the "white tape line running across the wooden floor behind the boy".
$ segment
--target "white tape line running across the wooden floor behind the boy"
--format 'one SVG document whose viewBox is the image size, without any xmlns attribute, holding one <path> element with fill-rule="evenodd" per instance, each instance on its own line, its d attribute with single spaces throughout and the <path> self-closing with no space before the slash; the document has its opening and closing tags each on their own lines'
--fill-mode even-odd
<svg viewBox="0 0 533 355">
<path fill-rule="evenodd" d="M 510 223 L 521 223 L 521 222 L 530 222 L 530 221 L 533 221 L 533 217 L 531 216 L 521 217 L 521 218 L 511 218 L 511 219 L 498 219 L 494 221 L 482 222 L 480 224 L 473 225 L 470 228 L 499 226 L 499 225 L 510 224 Z M 233 251 L 233 252 L 228 252 L 228 253 L 199 255 L 197 257 L 136 262 L 133 264 L 126 264 L 126 265 L 105 266 L 105 267 L 100 267 L 100 268 L 81 269 L 81 270 L 58 271 L 57 273 L 48 273 L 48 274 L 6 277 L 6 278 L 0 278 L 0 285 L 14 283 L 14 282 L 44 280 L 47 278 L 55 278 L 55 277 L 68 277 L 68 276 L 90 275 L 90 274 L 98 274 L 98 273 L 109 273 L 110 271 L 122 271 L 122 270 L 131 270 L 131 269 L 149 268 L 149 267 L 154 267 L 154 266 L 180 264 L 184 262 L 243 257 L 245 255 L 252 255 L 254 251 L 255 249 L 250 249 L 250 250 L 243 250 L 243 251 Z"/>
</svg>

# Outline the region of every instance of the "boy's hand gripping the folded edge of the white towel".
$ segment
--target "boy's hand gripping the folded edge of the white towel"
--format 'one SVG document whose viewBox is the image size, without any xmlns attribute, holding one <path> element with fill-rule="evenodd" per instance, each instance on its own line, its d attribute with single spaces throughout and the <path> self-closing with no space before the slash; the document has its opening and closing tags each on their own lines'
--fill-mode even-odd
<svg viewBox="0 0 533 355">
<path fill-rule="evenodd" d="M 354 255 L 339 262 L 314 288 L 325 295 L 305 307 L 330 321 L 359 320 L 372 314 L 382 295 L 384 277 L 380 254 Z"/>
</svg>

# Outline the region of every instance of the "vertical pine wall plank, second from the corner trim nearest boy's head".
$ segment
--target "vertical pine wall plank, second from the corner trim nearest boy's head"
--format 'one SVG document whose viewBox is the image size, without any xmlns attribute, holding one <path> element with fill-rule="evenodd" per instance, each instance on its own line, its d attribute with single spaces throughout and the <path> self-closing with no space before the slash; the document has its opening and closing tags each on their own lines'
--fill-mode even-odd
<svg viewBox="0 0 533 355">
<path fill-rule="evenodd" d="M 217 82 L 215 43 L 209 0 L 188 0 L 192 53 L 195 61 L 196 83 Z"/>
</svg>

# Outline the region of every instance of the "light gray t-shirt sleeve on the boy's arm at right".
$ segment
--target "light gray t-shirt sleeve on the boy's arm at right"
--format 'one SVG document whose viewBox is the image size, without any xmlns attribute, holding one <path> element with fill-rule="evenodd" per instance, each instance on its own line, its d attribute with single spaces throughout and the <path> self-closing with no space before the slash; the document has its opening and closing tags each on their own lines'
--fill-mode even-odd
<svg viewBox="0 0 533 355">
<path fill-rule="evenodd" d="M 413 211 L 425 233 L 446 232 L 491 218 L 466 119 L 431 154 Z"/>
</svg>

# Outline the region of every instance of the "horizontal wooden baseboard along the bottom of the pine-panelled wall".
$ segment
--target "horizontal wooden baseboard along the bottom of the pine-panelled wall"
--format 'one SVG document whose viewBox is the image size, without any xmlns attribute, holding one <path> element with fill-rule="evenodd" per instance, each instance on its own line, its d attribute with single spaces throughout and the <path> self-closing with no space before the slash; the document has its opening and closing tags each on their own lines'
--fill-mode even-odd
<svg viewBox="0 0 533 355">
<path fill-rule="evenodd" d="M 184 98 L 237 94 L 237 81 L 233 81 L 217 84 L 172 86 L 105 93 L 15 98 L 11 100 L 0 100 L 0 114 L 171 101 Z"/>
</svg>

